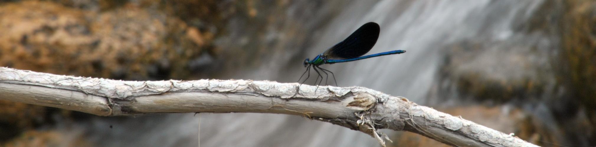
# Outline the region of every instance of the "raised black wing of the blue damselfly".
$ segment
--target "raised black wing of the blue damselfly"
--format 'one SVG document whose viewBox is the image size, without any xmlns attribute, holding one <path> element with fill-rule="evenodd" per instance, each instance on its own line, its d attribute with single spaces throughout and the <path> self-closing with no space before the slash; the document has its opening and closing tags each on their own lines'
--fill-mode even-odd
<svg viewBox="0 0 596 147">
<path fill-rule="evenodd" d="M 345 40 L 327 49 L 323 56 L 328 59 L 351 59 L 362 56 L 377 43 L 380 28 L 377 23 L 366 23 Z"/>
</svg>

